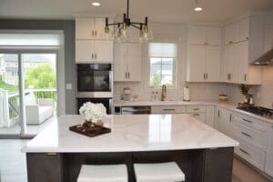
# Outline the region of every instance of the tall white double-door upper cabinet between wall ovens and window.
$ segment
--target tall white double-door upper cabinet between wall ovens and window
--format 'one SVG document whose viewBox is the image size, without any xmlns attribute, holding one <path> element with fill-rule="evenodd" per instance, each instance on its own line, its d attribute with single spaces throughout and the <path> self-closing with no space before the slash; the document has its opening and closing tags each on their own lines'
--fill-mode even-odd
<svg viewBox="0 0 273 182">
<path fill-rule="evenodd" d="M 138 43 L 116 43 L 114 81 L 141 81 L 141 45 Z"/>
</svg>

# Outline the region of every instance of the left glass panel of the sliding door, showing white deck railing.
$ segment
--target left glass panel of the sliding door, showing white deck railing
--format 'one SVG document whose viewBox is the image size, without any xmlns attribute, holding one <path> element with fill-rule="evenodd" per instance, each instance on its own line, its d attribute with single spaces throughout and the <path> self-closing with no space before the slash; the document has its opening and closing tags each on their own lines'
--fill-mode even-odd
<svg viewBox="0 0 273 182">
<path fill-rule="evenodd" d="M 19 135 L 19 55 L 0 53 L 0 135 Z"/>
</svg>

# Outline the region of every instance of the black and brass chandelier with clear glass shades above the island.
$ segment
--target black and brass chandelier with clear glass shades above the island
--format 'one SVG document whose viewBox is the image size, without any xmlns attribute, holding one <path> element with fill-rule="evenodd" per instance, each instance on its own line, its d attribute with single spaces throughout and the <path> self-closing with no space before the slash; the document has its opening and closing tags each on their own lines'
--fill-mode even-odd
<svg viewBox="0 0 273 182">
<path fill-rule="evenodd" d="M 135 27 L 139 29 L 139 42 L 142 43 L 143 41 L 149 41 L 152 39 L 152 32 L 148 27 L 148 18 L 145 17 L 144 23 L 137 23 L 137 22 L 131 22 L 131 19 L 129 17 L 129 0 L 127 0 L 127 11 L 126 14 L 123 15 L 123 22 L 109 24 L 108 17 L 106 17 L 106 27 L 105 27 L 105 33 L 106 35 L 110 34 L 110 25 L 116 25 L 116 35 L 115 38 L 117 41 L 121 42 L 125 40 L 126 38 L 129 38 L 128 35 L 130 33 L 130 27 Z"/>
</svg>

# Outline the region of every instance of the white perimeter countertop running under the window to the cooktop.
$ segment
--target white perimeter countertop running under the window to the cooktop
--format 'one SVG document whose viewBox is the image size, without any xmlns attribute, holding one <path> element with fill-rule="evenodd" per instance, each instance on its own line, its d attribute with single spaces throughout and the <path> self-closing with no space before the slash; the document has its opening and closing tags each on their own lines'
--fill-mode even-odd
<svg viewBox="0 0 273 182">
<path fill-rule="evenodd" d="M 262 121 L 273 123 L 273 119 L 266 118 L 263 116 L 254 115 L 252 113 L 248 113 L 243 110 L 239 110 L 237 104 L 229 103 L 229 102 L 220 102 L 219 100 L 199 100 L 199 101 L 115 101 L 114 106 L 190 106 L 190 105 L 198 105 L 198 106 L 220 106 L 223 108 L 227 108 L 228 110 L 238 112 L 245 116 L 251 116 Z"/>
</svg>

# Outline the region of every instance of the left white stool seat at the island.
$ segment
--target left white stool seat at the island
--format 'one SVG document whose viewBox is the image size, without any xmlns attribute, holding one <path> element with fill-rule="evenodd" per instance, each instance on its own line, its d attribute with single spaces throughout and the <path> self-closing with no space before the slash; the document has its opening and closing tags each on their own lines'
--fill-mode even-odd
<svg viewBox="0 0 273 182">
<path fill-rule="evenodd" d="M 77 182 L 127 182 L 126 165 L 83 165 Z"/>
</svg>

